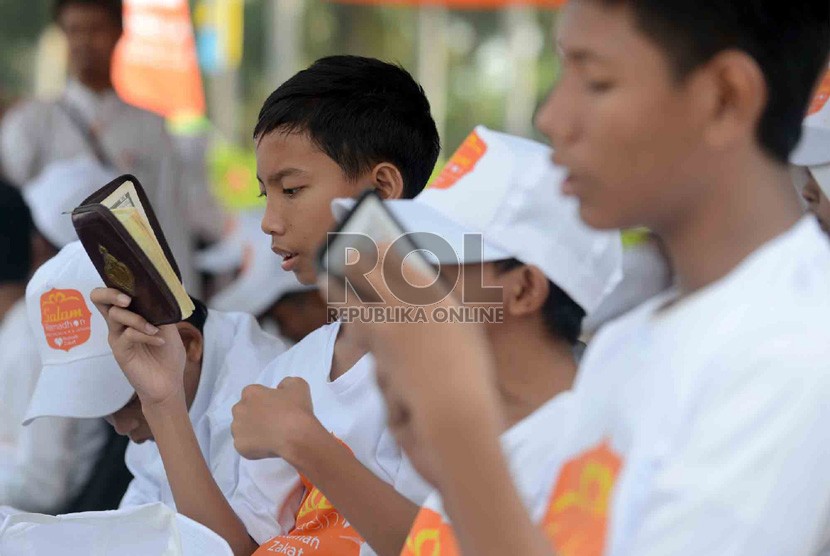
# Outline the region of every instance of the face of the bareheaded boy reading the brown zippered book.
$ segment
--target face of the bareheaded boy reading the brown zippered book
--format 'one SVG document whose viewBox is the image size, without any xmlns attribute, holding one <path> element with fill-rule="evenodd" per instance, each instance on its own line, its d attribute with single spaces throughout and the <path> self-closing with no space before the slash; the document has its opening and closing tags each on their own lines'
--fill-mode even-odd
<svg viewBox="0 0 830 556">
<path fill-rule="evenodd" d="M 282 268 L 301 283 L 314 284 L 317 251 L 334 226 L 331 201 L 354 197 L 371 182 L 349 180 L 302 133 L 268 133 L 257 143 L 256 158 L 257 179 L 267 196 L 262 231 L 271 236 Z"/>
</svg>

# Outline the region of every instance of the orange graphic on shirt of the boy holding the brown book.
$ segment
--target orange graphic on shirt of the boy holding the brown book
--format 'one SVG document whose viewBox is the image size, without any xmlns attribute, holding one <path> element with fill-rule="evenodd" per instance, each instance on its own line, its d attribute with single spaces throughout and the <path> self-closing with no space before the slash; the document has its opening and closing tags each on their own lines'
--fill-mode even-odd
<svg viewBox="0 0 830 556">
<path fill-rule="evenodd" d="M 344 444 L 345 446 L 345 444 Z M 357 556 L 363 538 L 337 508 L 304 476 L 305 495 L 297 512 L 294 529 L 287 535 L 269 540 L 254 556 L 284 554 L 286 556 Z"/>
</svg>

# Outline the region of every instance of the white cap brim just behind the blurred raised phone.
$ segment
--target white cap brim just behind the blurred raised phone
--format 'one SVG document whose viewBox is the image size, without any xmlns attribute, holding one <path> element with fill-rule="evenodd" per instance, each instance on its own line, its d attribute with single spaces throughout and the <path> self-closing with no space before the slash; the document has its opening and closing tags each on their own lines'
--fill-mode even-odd
<svg viewBox="0 0 830 556">
<path fill-rule="evenodd" d="M 337 221 L 342 221 L 354 207 L 353 199 L 335 199 L 332 202 L 332 214 Z M 403 229 L 410 233 L 428 233 L 440 237 L 446 245 L 430 244 L 428 238 L 417 238 L 419 247 L 426 251 L 426 258 L 433 264 L 472 264 L 502 261 L 511 259 L 514 255 L 493 245 L 486 239 L 482 240 L 481 249 L 477 245 L 474 249 L 464 248 L 464 237 L 471 234 L 481 234 L 482 230 L 473 230 L 462 226 L 440 211 L 411 199 L 385 201 L 384 205 L 400 223 Z"/>
</svg>

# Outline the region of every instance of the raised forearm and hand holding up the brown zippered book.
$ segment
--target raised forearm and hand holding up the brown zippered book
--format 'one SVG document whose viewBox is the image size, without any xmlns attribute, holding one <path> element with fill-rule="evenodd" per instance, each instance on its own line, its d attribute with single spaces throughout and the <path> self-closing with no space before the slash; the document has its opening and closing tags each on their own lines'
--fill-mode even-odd
<svg viewBox="0 0 830 556">
<path fill-rule="evenodd" d="M 176 327 L 151 326 L 125 309 L 131 300 L 117 290 L 96 289 L 91 299 L 106 318 L 113 354 L 141 399 L 178 511 L 221 535 L 237 556 L 253 553 L 257 545 L 216 485 L 193 431 Z"/>
</svg>

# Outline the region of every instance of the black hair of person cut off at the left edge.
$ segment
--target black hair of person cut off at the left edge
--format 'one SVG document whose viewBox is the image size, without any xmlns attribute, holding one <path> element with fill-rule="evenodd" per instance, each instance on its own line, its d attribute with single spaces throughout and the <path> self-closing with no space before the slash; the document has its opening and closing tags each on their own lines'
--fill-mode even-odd
<svg viewBox="0 0 830 556">
<path fill-rule="evenodd" d="M 0 180 L 0 283 L 25 283 L 29 278 L 34 227 L 20 191 Z"/>
</svg>

